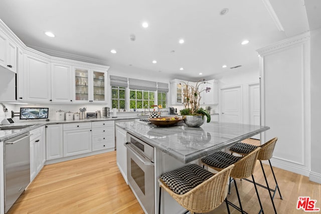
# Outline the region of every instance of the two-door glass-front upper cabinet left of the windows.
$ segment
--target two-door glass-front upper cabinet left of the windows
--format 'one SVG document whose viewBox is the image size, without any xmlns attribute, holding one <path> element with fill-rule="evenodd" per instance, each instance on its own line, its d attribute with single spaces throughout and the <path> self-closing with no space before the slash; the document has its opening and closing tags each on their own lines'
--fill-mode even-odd
<svg viewBox="0 0 321 214">
<path fill-rule="evenodd" d="M 73 67 L 74 100 L 77 103 L 107 103 L 107 72 Z"/>
</svg>

